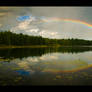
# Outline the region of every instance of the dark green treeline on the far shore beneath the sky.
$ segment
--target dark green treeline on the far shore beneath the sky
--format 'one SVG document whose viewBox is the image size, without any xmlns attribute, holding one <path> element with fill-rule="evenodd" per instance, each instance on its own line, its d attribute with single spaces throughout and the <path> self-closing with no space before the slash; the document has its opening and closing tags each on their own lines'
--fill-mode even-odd
<svg viewBox="0 0 92 92">
<path fill-rule="evenodd" d="M 41 36 L 29 36 L 10 31 L 0 32 L 0 46 L 30 46 L 30 45 L 62 45 L 62 46 L 91 46 L 92 41 L 83 39 L 49 39 Z"/>
</svg>

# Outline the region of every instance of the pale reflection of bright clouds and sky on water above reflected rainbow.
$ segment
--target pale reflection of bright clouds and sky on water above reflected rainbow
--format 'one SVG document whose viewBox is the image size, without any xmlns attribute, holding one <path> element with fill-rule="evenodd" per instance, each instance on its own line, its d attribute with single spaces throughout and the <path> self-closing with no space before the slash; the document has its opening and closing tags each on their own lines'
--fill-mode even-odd
<svg viewBox="0 0 92 92">
<path fill-rule="evenodd" d="M 35 72 L 74 71 L 90 66 L 92 64 L 91 55 L 92 52 L 78 54 L 52 53 L 40 57 L 13 59 L 12 63 L 25 70 L 32 70 Z"/>
</svg>

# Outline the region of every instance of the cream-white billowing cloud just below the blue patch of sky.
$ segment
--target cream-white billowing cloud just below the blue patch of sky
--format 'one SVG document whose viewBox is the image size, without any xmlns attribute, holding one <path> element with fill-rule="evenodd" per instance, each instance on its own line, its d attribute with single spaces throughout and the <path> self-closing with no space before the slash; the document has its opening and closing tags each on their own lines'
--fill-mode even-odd
<svg viewBox="0 0 92 92">
<path fill-rule="evenodd" d="M 35 17 L 30 16 L 29 20 L 18 22 L 17 26 L 11 28 L 11 31 L 15 33 L 37 33 L 39 29 L 31 24 L 33 21 L 36 21 Z"/>
</svg>

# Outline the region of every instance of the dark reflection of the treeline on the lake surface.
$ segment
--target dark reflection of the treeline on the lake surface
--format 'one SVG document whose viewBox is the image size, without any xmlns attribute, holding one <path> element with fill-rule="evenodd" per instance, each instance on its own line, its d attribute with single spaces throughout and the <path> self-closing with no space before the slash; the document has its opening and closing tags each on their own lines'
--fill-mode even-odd
<svg viewBox="0 0 92 92">
<path fill-rule="evenodd" d="M 48 47 L 48 48 L 17 48 L 0 49 L 1 58 L 24 58 L 33 56 L 42 56 L 46 53 L 79 53 L 92 51 L 92 47 Z"/>
</svg>

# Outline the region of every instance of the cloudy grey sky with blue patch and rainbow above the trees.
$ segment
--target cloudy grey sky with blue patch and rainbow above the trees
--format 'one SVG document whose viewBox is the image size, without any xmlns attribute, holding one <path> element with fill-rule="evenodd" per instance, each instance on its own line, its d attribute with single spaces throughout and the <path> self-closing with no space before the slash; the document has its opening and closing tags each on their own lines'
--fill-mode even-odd
<svg viewBox="0 0 92 92">
<path fill-rule="evenodd" d="M 0 31 L 92 40 L 92 7 L 0 7 Z"/>
</svg>

